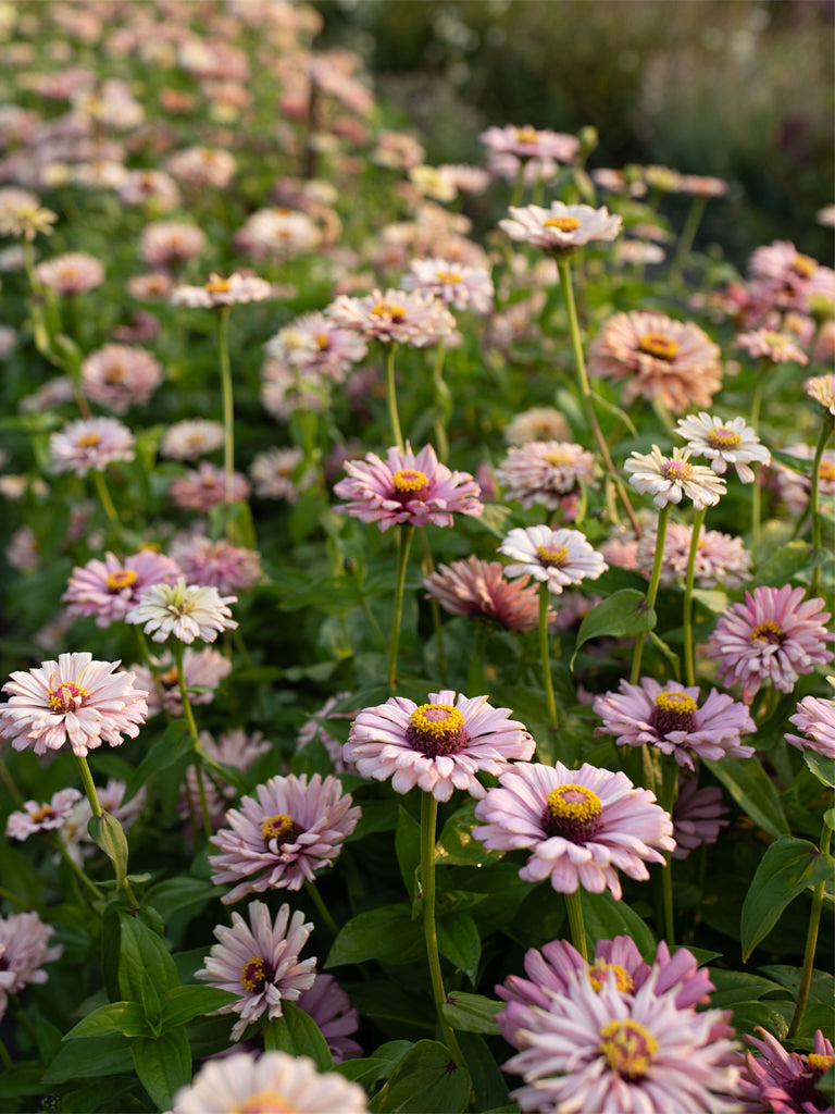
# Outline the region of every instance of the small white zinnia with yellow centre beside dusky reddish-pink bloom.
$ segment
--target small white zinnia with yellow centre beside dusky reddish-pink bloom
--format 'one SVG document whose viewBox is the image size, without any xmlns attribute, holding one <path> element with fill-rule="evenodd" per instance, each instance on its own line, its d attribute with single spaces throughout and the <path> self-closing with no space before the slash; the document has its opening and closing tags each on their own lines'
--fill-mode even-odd
<svg viewBox="0 0 835 1114">
<path fill-rule="evenodd" d="M 514 527 L 499 546 L 499 553 L 515 564 L 507 576 L 532 576 L 559 595 L 568 584 L 596 580 L 609 567 L 579 530 L 552 530 L 550 526 Z"/>
</svg>

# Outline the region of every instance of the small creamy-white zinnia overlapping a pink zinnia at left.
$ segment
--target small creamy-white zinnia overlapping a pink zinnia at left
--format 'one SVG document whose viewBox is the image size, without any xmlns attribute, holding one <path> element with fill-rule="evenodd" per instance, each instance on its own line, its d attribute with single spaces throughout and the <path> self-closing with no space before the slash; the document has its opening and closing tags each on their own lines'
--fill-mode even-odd
<svg viewBox="0 0 835 1114">
<path fill-rule="evenodd" d="M 217 588 L 186 584 L 155 584 L 125 616 L 126 623 L 145 624 L 143 629 L 154 642 L 165 642 L 174 635 L 180 642 L 195 638 L 214 642 L 222 631 L 234 631 L 237 623 L 227 604 L 237 596 L 222 596 Z"/>
</svg>

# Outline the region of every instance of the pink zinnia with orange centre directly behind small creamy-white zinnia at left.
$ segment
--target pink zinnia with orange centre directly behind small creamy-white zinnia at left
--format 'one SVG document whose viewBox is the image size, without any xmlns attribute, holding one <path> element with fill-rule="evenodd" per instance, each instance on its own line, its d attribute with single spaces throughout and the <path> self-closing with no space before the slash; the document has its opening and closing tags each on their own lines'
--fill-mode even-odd
<svg viewBox="0 0 835 1114">
<path fill-rule="evenodd" d="M 125 618 L 144 592 L 154 584 L 174 584 L 181 576 L 175 560 L 151 549 L 141 549 L 120 560 L 114 554 L 76 566 L 61 596 L 67 615 L 95 616 L 96 626 L 108 627 Z"/>
</svg>

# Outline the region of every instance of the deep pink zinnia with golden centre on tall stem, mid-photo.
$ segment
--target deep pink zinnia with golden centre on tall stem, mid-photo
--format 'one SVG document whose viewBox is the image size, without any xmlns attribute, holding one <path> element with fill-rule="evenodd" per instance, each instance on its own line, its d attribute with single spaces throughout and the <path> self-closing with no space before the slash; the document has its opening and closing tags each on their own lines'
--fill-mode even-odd
<svg viewBox="0 0 835 1114">
<path fill-rule="evenodd" d="M 472 476 L 450 471 L 431 444 L 414 453 L 406 442 L 405 449 L 389 449 L 385 460 L 369 452 L 365 460 L 345 461 L 345 471 L 347 477 L 333 490 L 348 501 L 334 509 L 377 522 L 382 531 L 397 522 L 452 526 L 455 514 L 479 518 L 484 510 Z"/>
</svg>

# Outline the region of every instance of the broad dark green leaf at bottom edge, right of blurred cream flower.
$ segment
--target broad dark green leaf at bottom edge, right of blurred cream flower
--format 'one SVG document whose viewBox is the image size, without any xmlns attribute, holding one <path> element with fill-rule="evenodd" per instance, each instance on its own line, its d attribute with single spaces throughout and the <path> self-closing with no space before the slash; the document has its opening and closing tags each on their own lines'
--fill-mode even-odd
<svg viewBox="0 0 835 1114">
<path fill-rule="evenodd" d="M 419 1040 L 371 1100 L 369 1110 L 373 1114 L 463 1114 L 471 1089 L 470 1073 L 454 1063 L 446 1045 Z"/>
</svg>

